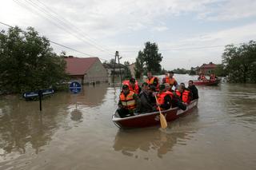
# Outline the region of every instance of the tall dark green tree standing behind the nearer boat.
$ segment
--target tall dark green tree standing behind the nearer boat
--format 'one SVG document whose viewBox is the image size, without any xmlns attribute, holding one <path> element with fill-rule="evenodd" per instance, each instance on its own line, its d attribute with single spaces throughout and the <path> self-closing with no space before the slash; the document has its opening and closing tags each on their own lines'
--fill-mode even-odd
<svg viewBox="0 0 256 170">
<path fill-rule="evenodd" d="M 161 73 L 162 54 L 158 53 L 158 45 L 156 43 L 145 43 L 145 49 L 142 52 L 143 61 L 146 64 L 146 71 L 152 73 Z"/>
</svg>

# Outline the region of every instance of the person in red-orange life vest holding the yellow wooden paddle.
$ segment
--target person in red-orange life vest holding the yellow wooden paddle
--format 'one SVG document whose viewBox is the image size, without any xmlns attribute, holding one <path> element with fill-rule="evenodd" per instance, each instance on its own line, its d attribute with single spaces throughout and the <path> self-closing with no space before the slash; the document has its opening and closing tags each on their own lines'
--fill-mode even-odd
<svg viewBox="0 0 256 170">
<path fill-rule="evenodd" d="M 159 86 L 159 92 L 156 94 L 156 97 L 158 101 L 155 110 L 158 110 L 158 106 L 161 110 L 170 109 L 173 93 L 166 91 L 166 85 Z"/>
</svg>

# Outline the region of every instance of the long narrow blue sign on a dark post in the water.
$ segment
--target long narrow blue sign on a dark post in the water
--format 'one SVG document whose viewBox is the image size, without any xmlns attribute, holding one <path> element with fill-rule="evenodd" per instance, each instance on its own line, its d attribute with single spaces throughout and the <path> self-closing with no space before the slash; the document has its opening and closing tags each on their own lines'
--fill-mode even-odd
<svg viewBox="0 0 256 170">
<path fill-rule="evenodd" d="M 39 89 L 38 91 L 23 93 L 23 97 L 26 99 L 29 99 L 32 97 L 38 97 L 39 109 L 40 111 L 42 111 L 42 97 L 45 95 L 53 94 L 53 93 L 54 93 L 54 89 Z"/>
</svg>

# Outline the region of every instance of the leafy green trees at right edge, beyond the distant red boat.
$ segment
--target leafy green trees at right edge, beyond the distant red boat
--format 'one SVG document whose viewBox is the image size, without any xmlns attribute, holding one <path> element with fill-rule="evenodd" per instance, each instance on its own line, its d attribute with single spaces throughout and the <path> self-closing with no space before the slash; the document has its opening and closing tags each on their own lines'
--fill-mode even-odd
<svg viewBox="0 0 256 170">
<path fill-rule="evenodd" d="M 222 59 L 229 81 L 256 83 L 256 42 L 239 47 L 226 45 Z"/>
</svg>

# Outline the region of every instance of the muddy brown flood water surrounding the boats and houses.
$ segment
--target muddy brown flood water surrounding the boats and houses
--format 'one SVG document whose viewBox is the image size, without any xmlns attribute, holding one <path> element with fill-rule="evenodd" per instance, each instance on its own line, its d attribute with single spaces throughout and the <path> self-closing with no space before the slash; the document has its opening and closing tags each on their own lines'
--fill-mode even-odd
<svg viewBox="0 0 256 170">
<path fill-rule="evenodd" d="M 166 132 L 116 127 L 120 88 L 106 84 L 54 93 L 42 112 L 38 101 L 0 97 L 0 169 L 255 169 L 256 85 L 198 91 L 198 108 Z"/>
</svg>

